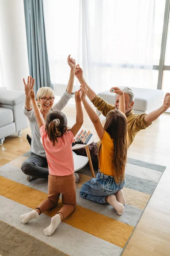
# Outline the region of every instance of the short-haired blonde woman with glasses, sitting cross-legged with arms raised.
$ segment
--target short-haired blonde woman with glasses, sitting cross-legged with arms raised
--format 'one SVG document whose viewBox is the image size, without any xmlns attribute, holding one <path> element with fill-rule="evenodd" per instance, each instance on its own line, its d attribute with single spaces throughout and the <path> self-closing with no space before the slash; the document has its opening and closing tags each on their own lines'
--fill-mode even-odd
<svg viewBox="0 0 170 256">
<path fill-rule="evenodd" d="M 54 90 L 50 87 L 41 87 L 37 91 L 37 102 L 40 105 L 40 112 L 45 120 L 45 116 L 49 110 L 61 111 L 65 105 L 68 103 L 69 99 L 72 97 L 72 90 L 74 84 L 74 72 L 76 67 L 76 62 L 73 58 L 68 56 L 68 65 L 71 67 L 70 78 L 68 80 L 68 85 L 66 91 L 62 95 L 59 102 L 53 106 L 54 102 Z M 25 85 L 26 102 L 23 107 L 24 114 L 28 117 L 31 128 L 31 156 L 28 157 L 26 161 L 23 162 L 21 170 L 28 175 L 27 180 L 30 181 L 34 178 L 44 178 L 48 179 L 48 166 L 45 150 L 42 143 L 40 142 L 40 129 L 37 124 L 37 119 L 35 117 L 34 111 L 31 105 L 31 99 L 28 94 L 30 90 L 34 87 L 34 79 L 28 76 L 27 84 L 23 79 Z"/>
</svg>

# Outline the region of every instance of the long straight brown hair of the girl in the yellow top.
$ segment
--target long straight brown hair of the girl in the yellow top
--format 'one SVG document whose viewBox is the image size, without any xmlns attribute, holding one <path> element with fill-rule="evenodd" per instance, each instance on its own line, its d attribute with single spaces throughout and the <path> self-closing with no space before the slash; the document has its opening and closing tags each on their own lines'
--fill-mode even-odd
<svg viewBox="0 0 170 256">
<path fill-rule="evenodd" d="M 125 166 L 127 160 L 127 119 L 119 110 L 112 110 L 106 116 L 104 130 L 113 139 L 113 177 L 116 183 L 122 183 L 125 179 Z M 98 158 L 100 161 L 99 147 Z"/>
</svg>

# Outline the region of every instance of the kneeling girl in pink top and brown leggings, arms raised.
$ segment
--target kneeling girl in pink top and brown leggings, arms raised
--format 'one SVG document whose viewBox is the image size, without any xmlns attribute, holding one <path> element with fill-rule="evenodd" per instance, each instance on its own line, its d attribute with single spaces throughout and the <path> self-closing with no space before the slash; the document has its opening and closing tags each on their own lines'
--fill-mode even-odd
<svg viewBox="0 0 170 256">
<path fill-rule="evenodd" d="M 74 162 L 72 153 L 73 138 L 83 123 L 80 92 L 75 92 L 76 123 L 67 131 L 67 118 L 61 111 L 51 111 L 46 118 L 46 125 L 35 100 L 34 90 L 29 93 L 34 113 L 40 128 L 42 144 L 48 162 L 48 198 L 33 211 L 20 216 L 22 223 L 39 218 L 42 212 L 57 206 L 60 193 L 64 206 L 51 218 L 51 224 L 44 230 L 46 236 L 51 236 L 59 223 L 75 210 L 76 186 Z"/>
</svg>

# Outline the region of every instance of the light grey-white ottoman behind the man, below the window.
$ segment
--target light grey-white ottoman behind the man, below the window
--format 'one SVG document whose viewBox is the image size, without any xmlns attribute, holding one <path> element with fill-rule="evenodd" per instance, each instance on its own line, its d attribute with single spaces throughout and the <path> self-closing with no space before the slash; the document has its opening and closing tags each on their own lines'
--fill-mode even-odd
<svg viewBox="0 0 170 256">
<path fill-rule="evenodd" d="M 120 87 L 120 89 L 123 88 L 124 87 Z M 133 105 L 133 110 L 135 113 L 150 113 L 151 111 L 161 107 L 164 99 L 164 92 L 162 90 L 136 87 L 130 87 L 130 89 L 132 89 L 135 93 L 135 100 Z M 98 96 L 102 97 L 110 104 L 115 104 L 116 94 L 110 93 L 110 90 L 98 93 Z M 100 113 L 100 111 L 97 110 L 97 113 Z"/>
</svg>

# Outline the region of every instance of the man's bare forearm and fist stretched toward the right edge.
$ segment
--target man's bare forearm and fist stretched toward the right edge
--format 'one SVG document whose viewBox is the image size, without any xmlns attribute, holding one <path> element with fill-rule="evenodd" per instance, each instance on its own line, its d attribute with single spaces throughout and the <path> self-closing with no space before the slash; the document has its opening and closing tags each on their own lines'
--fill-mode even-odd
<svg viewBox="0 0 170 256">
<path fill-rule="evenodd" d="M 158 108 L 155 111 L 152 111 L 151 113 L 147 114 L 144 117 L 144 121 L 148 123 L 155 121 L 162 113 L 167 111 L 168 108 L 170 108 L 170 93 L 165 94 L 164 102 L 161 108 Z"/>
</svg>

